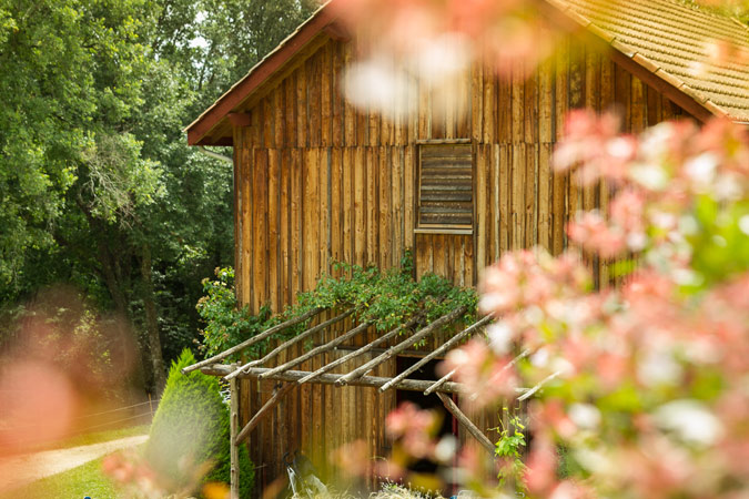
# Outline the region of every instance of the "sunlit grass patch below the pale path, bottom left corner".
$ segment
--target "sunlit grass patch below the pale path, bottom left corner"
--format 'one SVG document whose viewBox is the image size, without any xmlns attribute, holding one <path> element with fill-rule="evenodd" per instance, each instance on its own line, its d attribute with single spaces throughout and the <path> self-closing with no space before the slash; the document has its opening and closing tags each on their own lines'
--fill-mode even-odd
<svg viewBox="0 0 749 499">
<path fill-rule="evenodd" d="M 0 499 L 110 499 L 117 497 L 112 483 L 101 471 L 103 458 L 71 470 L 42 478 L 20 489 L 0 495 Z"/>
</svg>

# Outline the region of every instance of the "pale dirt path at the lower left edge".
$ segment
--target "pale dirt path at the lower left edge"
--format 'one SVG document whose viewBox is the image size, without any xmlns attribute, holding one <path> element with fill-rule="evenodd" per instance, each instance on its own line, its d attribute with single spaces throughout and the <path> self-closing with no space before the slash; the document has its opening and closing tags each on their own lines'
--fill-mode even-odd
<svg viewBox="0 0 749 499">
<path fill-rule="evenodd" d="M 148 435 L 121 438 L 90 446 L 16 456 L 0 461 L 0 492 L 24 486 L 51 475 L 77 468 L 118 449 L 134 447 L 148 440 Z"/>
</svg>

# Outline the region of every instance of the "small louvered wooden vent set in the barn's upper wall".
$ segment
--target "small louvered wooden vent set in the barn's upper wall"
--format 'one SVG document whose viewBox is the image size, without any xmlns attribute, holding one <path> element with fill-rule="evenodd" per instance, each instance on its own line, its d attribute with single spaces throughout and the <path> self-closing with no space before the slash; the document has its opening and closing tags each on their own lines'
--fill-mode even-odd
<svg viewBox="0 0 749 499">
<path fill-rule="evenodd" d="M 419 145 L 418 227 L 469 230 L 473 220 L 470 144 Z"/>
</svg>

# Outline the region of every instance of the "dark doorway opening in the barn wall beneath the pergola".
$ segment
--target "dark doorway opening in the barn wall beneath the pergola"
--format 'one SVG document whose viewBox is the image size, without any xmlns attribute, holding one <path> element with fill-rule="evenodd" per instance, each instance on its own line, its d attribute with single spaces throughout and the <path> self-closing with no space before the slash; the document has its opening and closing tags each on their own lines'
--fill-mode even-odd
<svg viewBox="0 0 749 499">
<path fill-rule="evenodd" d="M 403 373 L 404 370 L 406 370 L 407 368 L 409 368 L 419 360 L 421 358 L 418 357 L 398 357 L 397 358 L 398 374 Z M 441 376 L 436 373 L 437 364 L 439 364 L 439 360 L 432 360 L 425 364 L 418 370 L 409 374 L 408 379 L 423 379 L 428 381 L 435 381 L 439 379 Z M 437 439 L 446 435 L 452 435 L 456 439 L 458 438 L 457 419 L 455 419 L 453 415 L 449 414 L 447 409 L 445 409 L 445 406 L 443 405 L 442 400 L 439 400 L 439 397 L 437 397 L 435 394 L 424 395 L 421 391 L 396 390 L 395 399 L 397 405 L 401 405 L 404 401 L 409 401 L 415 404 L 422 409 L 431 409 L 438 413 L 442 418 L 442 426 L 439 427 L 439 430 L 437 432 Z M 456 464 L 454 462 L 453 466 L 455 465 Z M 412 471 L 419 473 L 439 473 L 443 476 L 443 478 L 446 478 L 444 473 L 441 473 L 437 464 L 427 459 L 422 459 L 415 462 L 413 466 L 409 467 L 409 469 Z M 454 489 L 455 486 L 452 485 L 451 488 Z M 447 491 L 443 491 L 443 496 L 449 497 L 449 495 L 446 495 L 445 492 Z"/>
</svg>

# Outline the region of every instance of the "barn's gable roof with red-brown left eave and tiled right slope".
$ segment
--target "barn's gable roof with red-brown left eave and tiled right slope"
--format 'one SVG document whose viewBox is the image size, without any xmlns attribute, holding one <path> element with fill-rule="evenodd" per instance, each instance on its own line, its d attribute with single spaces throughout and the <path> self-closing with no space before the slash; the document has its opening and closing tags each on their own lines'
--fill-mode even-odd
<svg viewBox="0 0 749 499">
<path fill-rule="evenodd" d="M 676 0 L 544 0 L 614 50 L 614 60 L 700 120 L 749 123 L 749 30 Z M 317 38 L 331 30 L 330 2 L 185 128 L 190 145 L 231 145 L 230 113 Z M 336 32 L 336 30 L 332 30 Z M 730 50 L 715 61 L 716 40 Z"/>
</svg>

